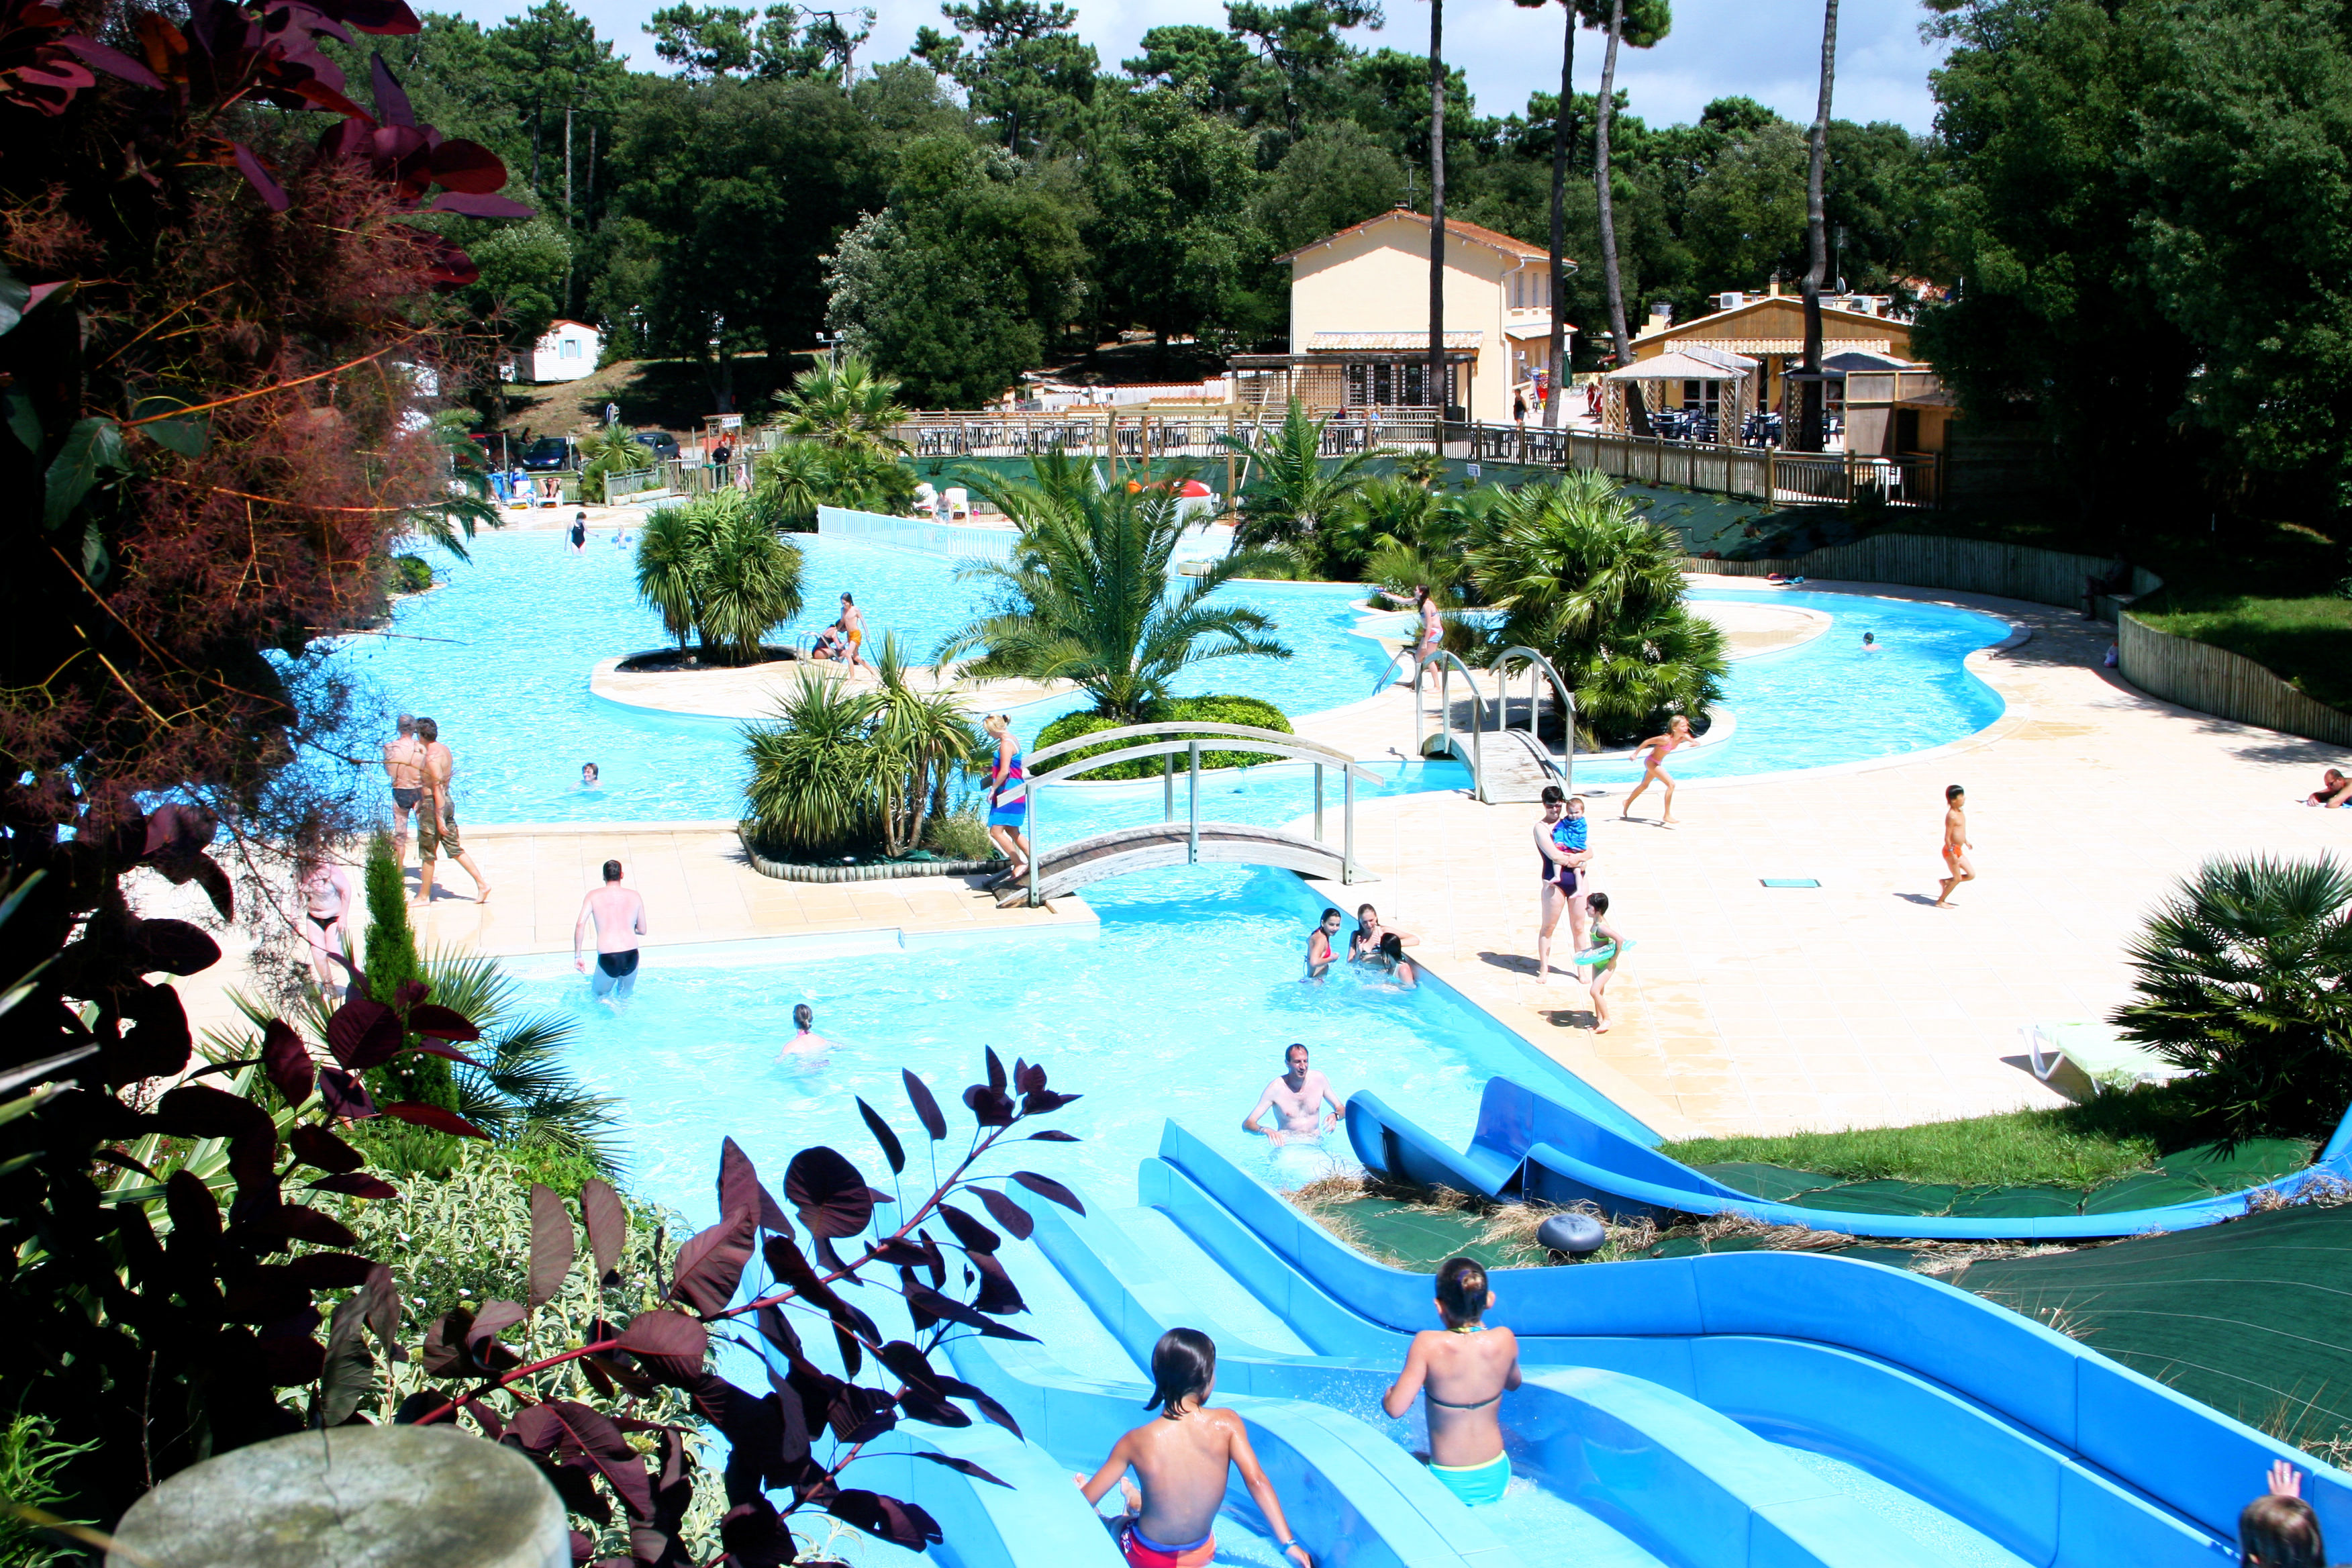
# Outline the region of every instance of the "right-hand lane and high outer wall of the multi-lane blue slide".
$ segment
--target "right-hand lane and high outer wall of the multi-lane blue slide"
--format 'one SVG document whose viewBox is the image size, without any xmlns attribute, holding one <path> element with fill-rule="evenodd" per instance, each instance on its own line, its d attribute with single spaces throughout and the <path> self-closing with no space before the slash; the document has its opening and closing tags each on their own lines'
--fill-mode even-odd
<svg viewBox="0 0 2352 1568">
<path fill-rule="evenodd" d="M 1362 1258 L 1174 1124 L 1141 1187 L 1312 1356 L 1392 1359 L 1397 1335 L 1435 1321 L 1425 1274 Z M 1494 1291 L 1491 1319 L 1517 1331 L 1526 1366 L 1658 1385 L 1853 1465 L 2025 1563 L 2218 1568 L 2274 1460 L 2310 1469 L 2321 1526 L 2352 1533 L 2352 1476 L 1919 1274 L 1726 1253 L 1498 1269 Z M 1616 1450 L 1585 1446 L 1609 1476 Z M 1672 1490 L 1635 1502 L 1677 1507 Z"/>
</svg>

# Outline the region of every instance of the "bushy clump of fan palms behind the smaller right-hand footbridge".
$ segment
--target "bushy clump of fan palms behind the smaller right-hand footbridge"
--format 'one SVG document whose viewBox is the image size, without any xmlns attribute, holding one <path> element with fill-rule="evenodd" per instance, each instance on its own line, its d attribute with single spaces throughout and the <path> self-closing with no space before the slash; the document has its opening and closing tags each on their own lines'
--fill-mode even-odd
<svg viewBox="0 0 2352 1568">
<path fill-rule="evenodd" d="M 1684 607 L 1682 541 L 1597 470 L 1498 498 L 1470 581 L 1503 611 L 1489 646 L 1550 658 L 1592 745 L 1639 741 L 1675 712 L 1705 719 L 1722 698 L 1724 637 Z"/>
</svg>

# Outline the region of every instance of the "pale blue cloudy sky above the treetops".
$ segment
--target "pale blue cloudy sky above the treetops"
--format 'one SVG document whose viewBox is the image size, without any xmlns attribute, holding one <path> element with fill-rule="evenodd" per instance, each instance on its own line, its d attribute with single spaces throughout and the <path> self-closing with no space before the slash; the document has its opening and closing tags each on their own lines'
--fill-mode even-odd
<svg viewBox="0 0 2352 1568">
<path fill-rule="evenodd" d="M 659 68 L 644 19 L 661 0 L 572 0 L 619 54 L 642 71 Z M 757 0 L 739 0 L 757 2 Z M 447 5 L 447 0 L 440 0 Z M 435 9 L 440 7 L 435 5 Z M 943 26 L 936 0 L 873 0 L 873 40 L 863 61 L 896 59 L 915 40 L 917 26 Z M 459 0 L 456 9 L 496 24 L 524 9 L 524 0 Z M 1075 0 L 1077 31 L 1096 47 L 1108 71 L 1136 52 L 1145 28 L 1192 21 L 1223 26 L 1218 0 Z M 1423 0 L 1385 0 L 1388 26 L 1359 31 L 1367 49 L 1392 47 L 1425 54 L 1430 12 Z M 1837 19 L 1839 120 L 1896 120 L 1926 132 L 1936 103 L 1926 73 L 1940 49 L 1919 40 L 1924 19 L 1917 0 L 1849 0 Z M 1534 89 L 1559 87 L 1559 7 L 1522 9 L 1512 0 L 1454 0 L 1446 7 L 1446 59 L 1470 78 L 1482 113 L 1526 108 Z M 1682 125 L 1712 99 L 1750 96 L 1799 125 L 1811 122 L 1820 73 L 1820 5 L 1799 0 L 1675 0 L 1675 31 L 1656 49 L 1625 49 L 1618 85 L 1632 113 L 1649 125 Z M 1602 75 L 1599 33 L 1576 40 L 1576 85 L 1592 92 Z"/>
</svg>

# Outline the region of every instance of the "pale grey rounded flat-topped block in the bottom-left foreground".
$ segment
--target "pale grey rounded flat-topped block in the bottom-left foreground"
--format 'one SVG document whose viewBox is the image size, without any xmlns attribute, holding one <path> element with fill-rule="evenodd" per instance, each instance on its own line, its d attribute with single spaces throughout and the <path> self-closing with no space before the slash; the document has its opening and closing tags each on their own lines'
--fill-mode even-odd
<svg viewBox="0 0 2352 1568">
<path fill-rule="evenodd" d="M 454 1427 L 299 1432 L 191 1465 L 115 1528 L 158 1568 L 572 1568 L 539 1469 Z"/>
</svg>

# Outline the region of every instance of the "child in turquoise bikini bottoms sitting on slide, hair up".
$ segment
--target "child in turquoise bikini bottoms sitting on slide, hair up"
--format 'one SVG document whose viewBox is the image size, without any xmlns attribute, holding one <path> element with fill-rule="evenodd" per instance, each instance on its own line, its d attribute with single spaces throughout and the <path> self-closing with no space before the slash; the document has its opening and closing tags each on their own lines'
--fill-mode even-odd
<svg viewBox="0 0 2352 1568">
<path fill-rule="evenodd" d="M 1414 1408 L 1414 1394 L 1430 1406 L 1430 1474 L 1446 1490 L 1477 1507 L 1501 1502 L 1510 1486 L 1503 1453 L 1503 1394 L 1519 1387 L 1519 1340 L 1510 1328 L 1489 1328 L 1486 1269 L 1472 1258 L 1446 1258 L 1437 1269 L 1437 1321 L 1404 1352 L 1404 1371 L 1381 1399 L 1390 1418 Z"/>
</svg>

